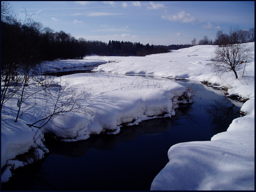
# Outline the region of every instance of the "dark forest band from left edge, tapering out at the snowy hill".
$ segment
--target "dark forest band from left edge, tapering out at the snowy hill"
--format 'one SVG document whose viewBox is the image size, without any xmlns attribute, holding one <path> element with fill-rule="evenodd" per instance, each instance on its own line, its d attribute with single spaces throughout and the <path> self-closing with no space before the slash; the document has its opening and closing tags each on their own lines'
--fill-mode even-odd
<svg viewBox="0 0 256 192">
<path fill-rule="evenodd" d="M 62 30 L 54 32 L 35 21 L 22 23 L 14 19 L 1 21 L 1 39 L 4 60 L 16 56 L 16 59 L 34 57 L 42 60 L 82 59 L 86 55 L 145 56 L 191 47 L 190 44 L 156 46 L 130 41 L 87 41 L 76 39 Z"/>
</svg>

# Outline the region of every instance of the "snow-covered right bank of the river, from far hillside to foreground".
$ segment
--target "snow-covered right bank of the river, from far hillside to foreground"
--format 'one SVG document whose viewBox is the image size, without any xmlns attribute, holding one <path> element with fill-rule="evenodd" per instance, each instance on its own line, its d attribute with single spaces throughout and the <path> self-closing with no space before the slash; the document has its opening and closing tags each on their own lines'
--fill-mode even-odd
<svg viewBox="0 0 256 192">
<path fill-rule="evenodd" d="M 248 43 L 253 47 L 254 43 Z M 169 163 L 155 177 L 151 190 L 254 190 L 254 59 L 235 79 L 221 77 L 206 66 L 214 46 L 194 46 L 144 58 L 109 58 L 96 71 L 145 74 L 206 81 L 228 88 L 228 96 L 249 99 L 242 106 L 247 116 L 234 119 L 227 132 L 211 141 L 179 143 L 168 151 Z M 102 58 L 101 59 L 107 59 Z"/>
</svg>

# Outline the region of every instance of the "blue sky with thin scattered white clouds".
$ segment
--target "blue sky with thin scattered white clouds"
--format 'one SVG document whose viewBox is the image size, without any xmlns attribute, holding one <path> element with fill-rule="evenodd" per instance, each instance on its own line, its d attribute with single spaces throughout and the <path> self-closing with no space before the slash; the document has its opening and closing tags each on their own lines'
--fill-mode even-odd
<svg viewBox="0 0 256 192">
<path fill-rule="evenodd" d="M 239 2 L 10 2 L 18 17 L 26 8 L 34 21 L 86 40 L 190 44 L 231 26 L 254 27 L 254 1 Z"/>
</svg>

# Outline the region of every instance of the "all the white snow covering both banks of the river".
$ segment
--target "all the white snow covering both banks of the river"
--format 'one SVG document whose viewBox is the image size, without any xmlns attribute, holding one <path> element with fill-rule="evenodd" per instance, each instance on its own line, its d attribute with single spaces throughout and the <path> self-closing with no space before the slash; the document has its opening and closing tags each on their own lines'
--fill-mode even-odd
<svg viewBox="0 0 256 192">
<path fill-rule="evenodd" d="M 254 43 L 247 45 L 254 50 Z M 26 124 L 45 117 L 45 108 L 50 110 L 49 99 L 38 93 L 36 107 L 29 110 L 22 104 L 22 110 L 28 111 L 17 123 L 11 118 L 18 109 L 17 99 L 6 102 L 1 120 L 1 167 L 6 166 L 2 182 L 11 177 L 12 168 L 26 164 L 14 159 L 16 155 L 31 148 L 37 149 L 39 158 L 47 152 L 41 133 L 54 133 L 65 142 L 74 142 L 104 131 L 117 134 L 124 124 L 138 124 L 161 114 L 173 116 L 179 102 L 191 101 L 178 99 L 190 94 L 168 78 L 185 78 L 228 88 L 228 96 L 248 100 L 241 108 L 247 115 L 234 119 L 226 132 L 213 136 L 211 141 L 172 146 L 166 151 L 169 163 L 155 177 L 151 190 L 254 190 L 254 60 L 247 63 L 244 77 L 242 71 L 238 72 L 239 79 L 233 72 L 220 77 L 206 66 L 213 51 L 214 46 L 205 45 L 145 57 L 87 56 L 83 60 L 47 62 L 45 71 L 101 64 L 94 69 L 96 73 L 54 79 L 65 80 L 66 89 L 73 88 L 78 93 L 87 90 L 86 102 L 79 103 L 87 114 L 68 112 L 37 130 Z M 54 92 L 53 100 L 56 95 Z M 35 134 L 40 139 L 35 141 Z"/>
</svg>

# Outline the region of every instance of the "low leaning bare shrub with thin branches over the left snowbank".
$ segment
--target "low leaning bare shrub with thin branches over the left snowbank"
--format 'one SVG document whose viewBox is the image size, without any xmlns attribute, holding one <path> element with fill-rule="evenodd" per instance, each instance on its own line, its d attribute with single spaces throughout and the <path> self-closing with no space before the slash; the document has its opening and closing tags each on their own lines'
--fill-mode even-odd
<svg viewBox="0 0 256 192">
<path fill-rule="evenodd" d="M 89 103 L 87 101 L 87 96 L 90 93 L 90 89 L 83 88 L 77 90 L 76 88 L 72 87 L 72 85 L 68 86 L 67 77 L 60 78 L 59 82 L 57 83 L 55 82 L 54 78 L 49 76 L 39 79 L 43 79 L 42 81 L 38 81 L 38 84 L 43 88 L 45 117 L 34 120 L 34 122 L 27 124 L 29 127 L 42 128 L 57 116 L 66 115 L 69 112 L 73 114 L 84 114 L 89 119 L 91 118 L 89 114 L 92 116 L 97 115 L 97 112 L 88 108 Z M 68 128 L 62 127 L 61 129 Z"/>
</svg>

